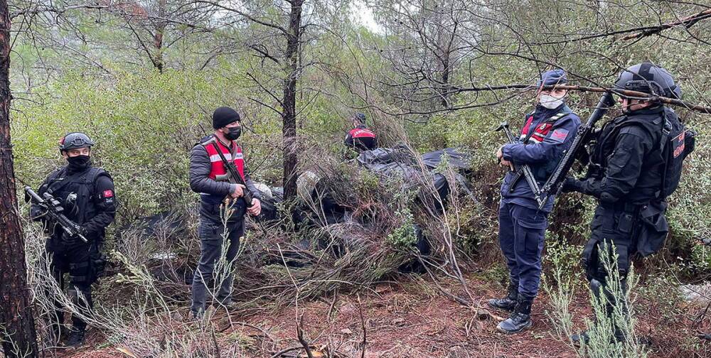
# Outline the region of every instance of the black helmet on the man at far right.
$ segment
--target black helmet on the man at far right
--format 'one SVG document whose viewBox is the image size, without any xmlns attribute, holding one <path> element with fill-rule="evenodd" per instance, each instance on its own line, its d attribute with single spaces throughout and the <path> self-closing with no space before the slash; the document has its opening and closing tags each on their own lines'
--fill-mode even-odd
<svg viewBox="0 0 711 358">
<path fill-rule="evenodd" d="M 662 67 L 648 62 L 639 63 L 622 71 L 614 87 L 653 96 L 681 99 L 681 88 L 674 82 L 674 77 Z"/>
</svg>

